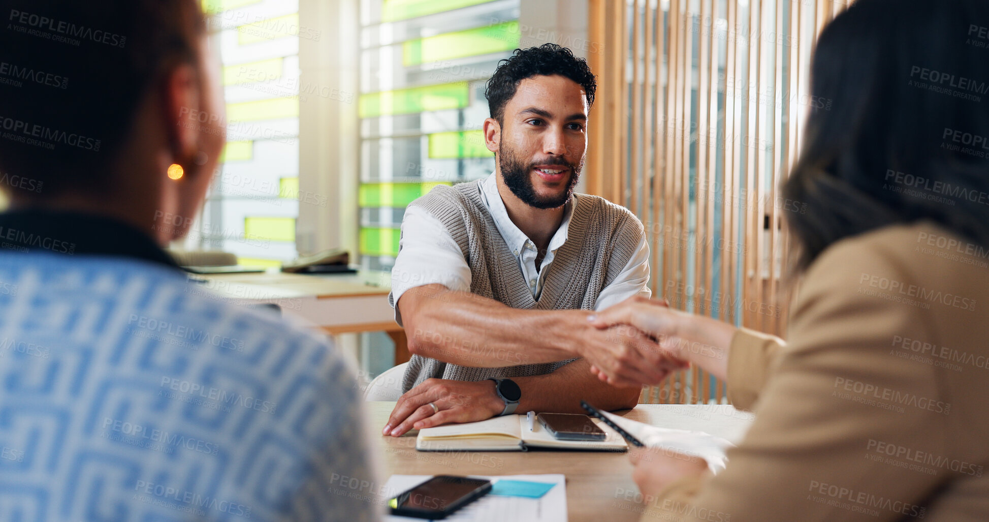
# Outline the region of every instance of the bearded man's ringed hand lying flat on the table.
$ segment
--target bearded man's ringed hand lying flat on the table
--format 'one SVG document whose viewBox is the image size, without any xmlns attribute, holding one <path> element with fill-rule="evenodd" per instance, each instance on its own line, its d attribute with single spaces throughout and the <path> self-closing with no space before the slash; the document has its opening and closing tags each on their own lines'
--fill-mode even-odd
<svg viewBox="0 0 989 522">
<path fill-rule="evenodd" d="M 430 403 L 436 405 L 435 410 Z M 503 410 L 504 401 L 491 380 L 428 378 L 399 398 L 382 435 L 399 437 L 413 428 L 483 421 Z"/>
</svg>

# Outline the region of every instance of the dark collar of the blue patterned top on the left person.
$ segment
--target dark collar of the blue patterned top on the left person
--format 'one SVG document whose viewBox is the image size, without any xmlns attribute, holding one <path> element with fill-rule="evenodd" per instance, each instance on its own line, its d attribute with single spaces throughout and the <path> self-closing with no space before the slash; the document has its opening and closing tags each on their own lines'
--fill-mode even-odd
<svg viewBox="0 0 989 522">
<path fill-rule="evenodd" d="M 133 258 L 182 268 L 147 234 L 113 218 L 43 209 L 0 213 L 0 242 L 14 252 Z"/>
</svg>

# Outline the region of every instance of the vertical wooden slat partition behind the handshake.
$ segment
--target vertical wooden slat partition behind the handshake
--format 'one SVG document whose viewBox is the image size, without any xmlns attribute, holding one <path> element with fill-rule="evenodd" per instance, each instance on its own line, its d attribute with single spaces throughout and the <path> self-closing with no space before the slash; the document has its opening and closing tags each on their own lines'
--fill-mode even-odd
<svg viewBox="0 0 989 522">
<path fill-rule="evenodd" d="M 849 0 L 588 0 L 598 76 L 586 187 L 630 208 L 654 296 L 783 336 L 791 292 L 778 186 L 796 160 L 811 49 Z M 799 204 L 799 202 L 795 202 Z M 722 401 L 696 368 L 643 402 Z"/>
</svg>

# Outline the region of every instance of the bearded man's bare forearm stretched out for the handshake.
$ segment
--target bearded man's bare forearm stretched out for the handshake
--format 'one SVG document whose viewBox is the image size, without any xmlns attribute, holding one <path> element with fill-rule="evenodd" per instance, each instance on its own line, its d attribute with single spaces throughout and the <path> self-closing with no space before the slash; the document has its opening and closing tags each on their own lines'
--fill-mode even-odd
<svg viewBox="0 0 989 522">
<path fill-rule="evenodd" d="M 407 290 L 397 303 L 412 354 L 464 366 L 551 363 L 575 357 L 582 310 L 525 310 L 438 284 Z M 589 374 L 589 373 L 588 373 Z"/>
</svg>

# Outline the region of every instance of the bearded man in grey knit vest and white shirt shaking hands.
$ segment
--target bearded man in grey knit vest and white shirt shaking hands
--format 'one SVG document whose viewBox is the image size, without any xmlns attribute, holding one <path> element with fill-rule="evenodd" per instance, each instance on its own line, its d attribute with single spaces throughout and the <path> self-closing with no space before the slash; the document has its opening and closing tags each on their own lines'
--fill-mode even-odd
<svg viewBox="0 0 989 522">
<path fill-rule="evenodd" d="M 488 82 L 494 172 L 437 186 L 405 211 L 389 301 L 412 354 L 384 435 L 528 410 L 634 407 L 639 388 L 592 365 L 675 367 L 637 331 L 597 330 L 594 311 L 649 297 L 649 247 L 624 207 L 574 193 L 596 81 L 553 44 L 515 50 Z"/>
</svg>

